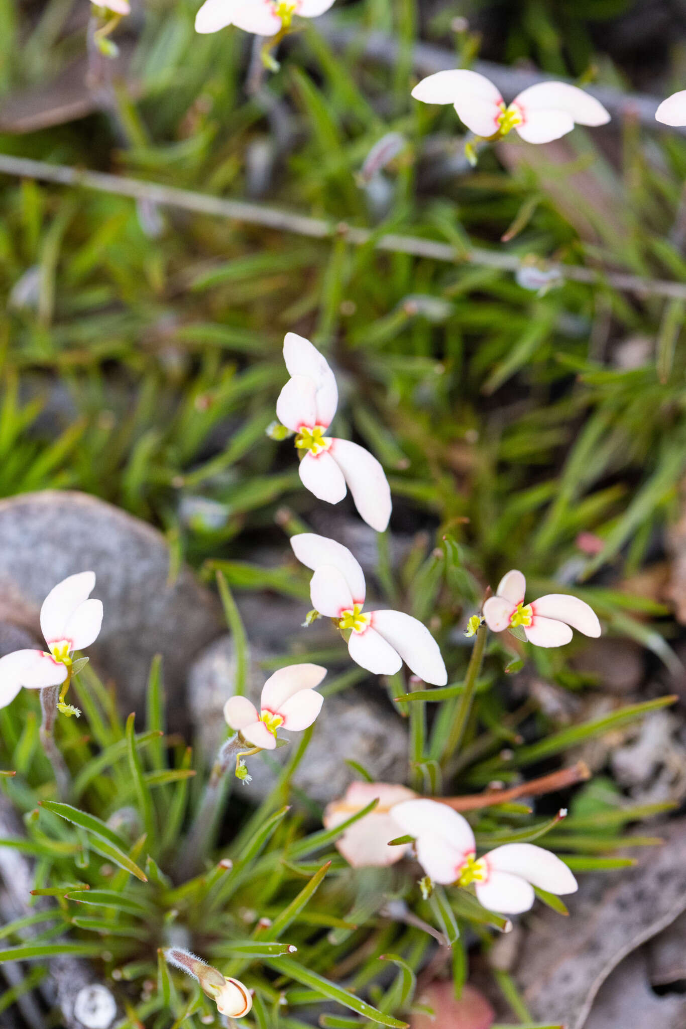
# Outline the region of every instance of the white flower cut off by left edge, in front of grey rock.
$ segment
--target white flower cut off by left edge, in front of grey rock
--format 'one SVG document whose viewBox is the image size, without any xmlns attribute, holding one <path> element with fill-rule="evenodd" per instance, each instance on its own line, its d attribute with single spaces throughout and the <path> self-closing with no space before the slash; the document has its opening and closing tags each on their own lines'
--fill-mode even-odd
<svg viewBox="0 0 686 1029">
<path fill-rule="evenodd" d="M 66 680 L 73 651 L 89 646 L 100 633 L 102 601 L 88 600 L 95 584 L 95 572 L 79 572 L 50 590 L 40 609 L 49 653 L 14 650 L 0 658 L 0 707 L 11 703 L 22 686 L 43 689 Z"/>
</svg>

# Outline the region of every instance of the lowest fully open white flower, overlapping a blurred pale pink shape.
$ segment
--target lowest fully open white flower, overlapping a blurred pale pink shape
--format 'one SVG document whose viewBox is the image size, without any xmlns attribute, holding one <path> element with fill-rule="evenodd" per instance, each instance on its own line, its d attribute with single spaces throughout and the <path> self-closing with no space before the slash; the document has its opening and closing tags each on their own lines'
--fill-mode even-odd
<svg viewBox="0 0 686 1029">
<path fill-rule="evenodd" d="M 398 804 L 400 828 L 414 837 L 417 857 L 435 883 L 469 886 L 484 908 L 503 915 L 529 911 L 534 886 L 548 893 L 574 893 L 577 881 L 558 857 L 531 843 L 507 843 L 476 857 L 472 827 L 461 814 L 436 801 Z"/>
</svg>

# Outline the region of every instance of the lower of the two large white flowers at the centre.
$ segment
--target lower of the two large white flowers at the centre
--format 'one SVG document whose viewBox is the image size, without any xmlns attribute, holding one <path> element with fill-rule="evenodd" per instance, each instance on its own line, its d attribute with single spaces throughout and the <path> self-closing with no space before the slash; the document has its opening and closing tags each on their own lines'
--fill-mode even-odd
<svg viewBox="0 0 686 1029">
<path fill-rule="evenodd" d="M 347 546 L 312 532 L 291 536 L 291 546 L 315 572 L 310 582 L 313 607 L 335 618 L 339 629 L 352 630 L 348 650 L 353 661 L 378 675 L 394 675 L 404 661 L 425 682 L 447 682 L 438 644 L 426 626 L 402 611 L 363 613 L 364 572 Z"/>
</svg>

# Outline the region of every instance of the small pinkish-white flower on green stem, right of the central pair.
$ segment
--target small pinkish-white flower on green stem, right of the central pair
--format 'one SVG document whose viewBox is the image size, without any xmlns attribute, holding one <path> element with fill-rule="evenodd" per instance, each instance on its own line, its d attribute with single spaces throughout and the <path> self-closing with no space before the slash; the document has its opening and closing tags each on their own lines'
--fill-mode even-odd
<svg viewBox="0 0 686 1029">
<path fill-rule="evenodd" d="M 572 629 L 584 636 L 600 636 L 595 612 L 583 600 L 566 593 L 548 593 L 525 607 L 527 580 L 513 570 L 504 575 L 495 597 L 483 605 L 483 617 L 494 633 L 521 626 L 536 646 L 563 646 L 572 639 Z M 570 629 L 570 626 L 572 629 Z"/>
</svg>

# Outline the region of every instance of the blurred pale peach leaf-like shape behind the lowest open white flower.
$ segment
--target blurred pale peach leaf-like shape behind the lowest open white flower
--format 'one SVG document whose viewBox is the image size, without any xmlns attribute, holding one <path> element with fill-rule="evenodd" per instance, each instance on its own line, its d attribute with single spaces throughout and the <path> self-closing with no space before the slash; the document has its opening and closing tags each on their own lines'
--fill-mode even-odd
<svg viewBox="0 0 686 1029">
<path fill-rule="evenodd" d="M 339 801 L 332 801 L 324 812 L 324 827 L 333 829 L 372 801 L 378 801 L 373 811 L 346 829 L 336 840 L 336 848 L 354 868 L 387 867 L 400 861 L 409 845 L 389 847 L 400 833 L 391 817 L 391 808 L 403 801 L 412 801 L 417 793 L 406 786 L 388 782 L 353 782 Z"/>
</svg>

